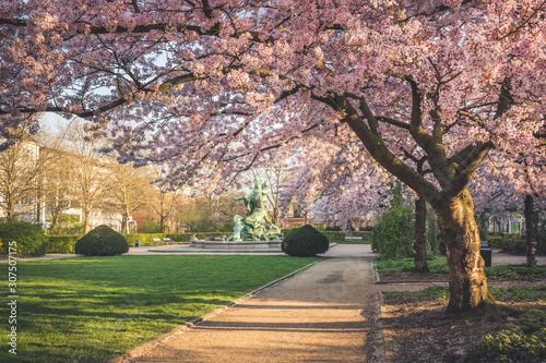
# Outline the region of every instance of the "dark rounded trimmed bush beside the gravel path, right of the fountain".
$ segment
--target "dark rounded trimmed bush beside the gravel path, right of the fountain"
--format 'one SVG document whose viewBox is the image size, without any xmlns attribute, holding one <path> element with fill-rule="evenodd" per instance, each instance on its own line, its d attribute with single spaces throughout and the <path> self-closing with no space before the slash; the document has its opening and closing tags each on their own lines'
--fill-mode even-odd
<svg viewBox="0 0 546 363">
<path fill-rule="evenodd" d="M 314 227 L 306 225 L 285 237 L 281 246 L 288 256 L 312 257 L 327 252 L 329 245 L 324 234 Z"/>
</svg>

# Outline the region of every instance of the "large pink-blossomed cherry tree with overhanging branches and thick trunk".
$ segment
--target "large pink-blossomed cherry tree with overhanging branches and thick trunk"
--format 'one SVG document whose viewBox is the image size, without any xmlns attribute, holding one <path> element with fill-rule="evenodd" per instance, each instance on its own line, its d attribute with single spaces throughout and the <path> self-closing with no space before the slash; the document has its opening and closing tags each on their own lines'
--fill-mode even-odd
<svg viewBox="0 0 546 363">
<path fill-rule="evenodd" d="M 543 0 L 9 0 L 0 116 L 76 114 L 121 162 L 225 180 L 262 153 L 359 145 L 435 210 L 450 312 L 492 302 L 466 186 L 491 149 L 532 157 Z M 544 137 L 544 136 L 543 136 Z M 329 141 L 325 143 L 324 141 Z M 400 148 L 427 157 L 431 179 Z M 206 165 L 207 168 L 203 168 Z"/>
</svg>

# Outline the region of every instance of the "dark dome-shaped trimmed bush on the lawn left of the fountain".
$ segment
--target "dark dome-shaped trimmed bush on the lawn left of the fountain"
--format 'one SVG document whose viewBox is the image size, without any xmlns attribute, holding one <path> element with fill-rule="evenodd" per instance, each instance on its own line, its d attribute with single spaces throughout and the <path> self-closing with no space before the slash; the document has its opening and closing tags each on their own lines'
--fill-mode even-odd
<svg viewBox="0 0 546 363">
<path fill-rule="evenodd" d="M 105 225 L 90 231 L 74 246 L 75 254 L 84 256 L 114 256 L 128 251 L 126 238 Z"/>
</svg>

